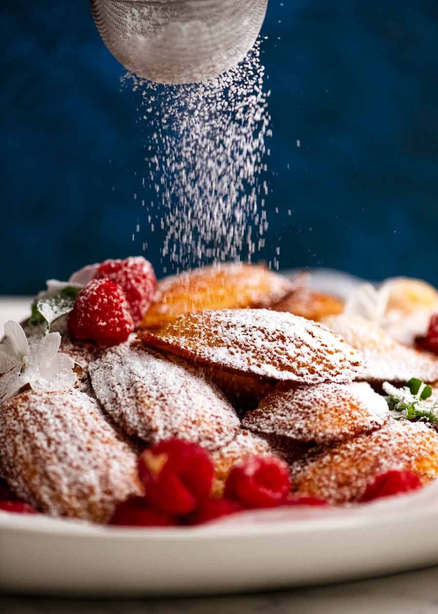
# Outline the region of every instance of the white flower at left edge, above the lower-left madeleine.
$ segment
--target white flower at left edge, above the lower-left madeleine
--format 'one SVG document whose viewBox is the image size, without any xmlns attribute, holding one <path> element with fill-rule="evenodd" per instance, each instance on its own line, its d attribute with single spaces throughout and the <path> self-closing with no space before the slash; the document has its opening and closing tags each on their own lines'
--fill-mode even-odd
<svg viewBox="0 0 438 614">
<path fill-rule="evenodd" d="M 36 392 L 67 390 L 74 386 L 74 360 L 58 352 L 60 333 L 26 338 L 23 328 L 10 320 L 0 344 L 0 403 L 29 385 Z"/>
</svg>

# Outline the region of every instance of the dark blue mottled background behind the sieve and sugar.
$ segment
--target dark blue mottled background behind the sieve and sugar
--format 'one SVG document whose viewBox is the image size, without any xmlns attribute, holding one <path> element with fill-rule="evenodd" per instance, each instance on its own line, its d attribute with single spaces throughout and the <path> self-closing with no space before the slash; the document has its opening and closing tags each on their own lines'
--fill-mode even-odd
<svg viewBox="0 0 438 614">
<path fill-rule="evenodd" d="M 263 31 L 274 130 L 263 256 L 280 243 L 283 268 L 438 284 L 438 2 L 281 4 L 270 0 Z M 88 2 L 10 0 L 2 12 L 0 293 L 33 293 L 145 240 L 161 274 L 159 233 L 132 238 L 138 98 L 121 90 Z"/>
</svg>

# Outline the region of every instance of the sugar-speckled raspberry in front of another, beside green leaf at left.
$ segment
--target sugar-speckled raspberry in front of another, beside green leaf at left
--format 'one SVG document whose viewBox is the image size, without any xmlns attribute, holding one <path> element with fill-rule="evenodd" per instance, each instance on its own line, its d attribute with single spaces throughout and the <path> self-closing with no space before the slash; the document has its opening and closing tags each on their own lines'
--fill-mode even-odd
<svg viewBox="0 0 438 614">
<path fill-rule="evenodd" d="M 111 279 L 93 279 L 75 300 L 67 323 L 75 339 L 102 345 L 123 343 L 134 330 L 125 294 Z"/>
</svg>

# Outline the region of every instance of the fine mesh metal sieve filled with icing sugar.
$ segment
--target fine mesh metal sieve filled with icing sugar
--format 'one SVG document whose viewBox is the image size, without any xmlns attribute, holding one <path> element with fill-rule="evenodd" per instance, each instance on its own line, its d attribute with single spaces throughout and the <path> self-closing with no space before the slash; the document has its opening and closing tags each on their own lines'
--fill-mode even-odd
<svg viewBox="0 0 438 614">
<path fill-rule="evenodd" d="M 130 71 L 159 83 L 218 76 L 252 48 L 267 0 L 91 0 L 102 40 Z"/>
</svg>

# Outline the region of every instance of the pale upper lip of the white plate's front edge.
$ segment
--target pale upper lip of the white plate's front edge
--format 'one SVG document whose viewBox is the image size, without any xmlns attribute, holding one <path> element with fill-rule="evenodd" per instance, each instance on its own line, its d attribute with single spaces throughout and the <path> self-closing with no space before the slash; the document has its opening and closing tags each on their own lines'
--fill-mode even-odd
<svg viewBox="0 0 438 614">
<path fill-rule="evenodd" d="M 438 484 L 436 484 L 438 487 Z M 369 503 L 359 503 L 347 507 L 310 508 L 307 506 L 294 508 L 274 508 L 274 510 L 255 510 L 243 512 L 236 518 L 244 518 L 245 515 L 255 513 L 262 521 L 246 523 L 230 521 L 217 521 L 203 526 L 194 527 L 117 527 L 93 524 L 88 521 L 80 521 L 66 518 L 50 518 L 44 514 L 20 515 L 9 512 L 0 513 L 0 532 L 21 533 L 26 535 L 56 535 L 57 537 L 88 537 L 110 540 L 192 540 L 223 539 L 226 537 L 266 537 L 268 535 L 298 535 L 307 532 L 341 531 L 343 529 L 366 530 L 369 527 L 376 528 L 402 524 L 405 520 L 410 523 L 438 519 L 438 488 L 433 485 L 425 487 L 426 494 L 433 490 L 436 496 L 435 505 L 415 506 L 415 501 L 420 498 L 423 491 L 398 495 L 391 499 L 376 500 Z M 429 491 L 429 492 L 427 492 Z M 407 505 L 400 505 L 407 503 Z M 426 503 L 426 502 L 425 502 Z M 290 510 L 291 516 L 296 518 L 269 519 L 271 512 Z M 307 516 L 302 518 L 302 513 L 307 511 Z"/>
</svg>

